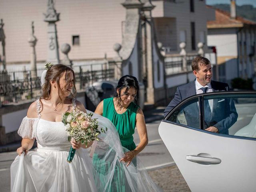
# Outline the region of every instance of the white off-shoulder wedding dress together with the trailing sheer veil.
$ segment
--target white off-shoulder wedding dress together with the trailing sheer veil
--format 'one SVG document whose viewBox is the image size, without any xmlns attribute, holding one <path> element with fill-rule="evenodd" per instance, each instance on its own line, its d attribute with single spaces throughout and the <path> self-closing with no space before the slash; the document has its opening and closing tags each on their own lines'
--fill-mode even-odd
<svg viewBox="0 0 256 192">
<path fill-rule="evenodd" d="M 122 171 L 125 184 L 122 192 L 160 192 L 159 188 L 136 157 L 136 165 L 119 160 L 128 151 L 123 148 L 115 126 L 105 117 L 93 114 L 106 133 L 98 135 L 90 156 L 100 157 L 94 162 L 88 150 L 80 148 L 69 164 L 70 142 L 62 122 L 50 122 L 41 118 L 40 102 L 37 102 L 38 118 L 25 117 L 18 134 L 22 138 L 36 138 L 37 147 L 26 155 L 17 156 L 11 165 L 11 192 L 120 192 L 112 188 L 112 182 Z M 76 108 L 72 100 L 73 109 Z M 87 110 L 88 113 L 92 113 Z"/>
</svg>

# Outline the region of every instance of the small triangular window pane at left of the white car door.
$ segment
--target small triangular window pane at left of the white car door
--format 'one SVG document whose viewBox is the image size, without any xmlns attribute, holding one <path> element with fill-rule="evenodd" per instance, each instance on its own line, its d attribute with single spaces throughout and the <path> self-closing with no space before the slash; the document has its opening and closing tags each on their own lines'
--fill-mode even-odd
<svg viewBox="0 0 256 192">
<path fill-rule="evenodd" d="M 191 99 L 176 109 L 168 121 L 200 129 L 198 98 Z"/>
</svg>

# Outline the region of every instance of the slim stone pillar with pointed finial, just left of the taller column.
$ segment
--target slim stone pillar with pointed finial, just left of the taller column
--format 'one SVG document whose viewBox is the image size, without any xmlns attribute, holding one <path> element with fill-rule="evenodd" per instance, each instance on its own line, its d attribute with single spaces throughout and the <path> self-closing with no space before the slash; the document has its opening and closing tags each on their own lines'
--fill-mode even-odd
<svg viewBox="0 0 256 192">
<path fill-rule="evenodd" d="M 34 21 L 32 21 L 32 32 L 30 34 L 30 38 L 28 38 L 28 43 L 31 47 L 31 53 L 30 53 L 30 68 L 31 68 L 31 77 L 36 78 L 37 73 L 36 73 L 36 42 L 37 39 L 34 36 Z"/>
</svg>

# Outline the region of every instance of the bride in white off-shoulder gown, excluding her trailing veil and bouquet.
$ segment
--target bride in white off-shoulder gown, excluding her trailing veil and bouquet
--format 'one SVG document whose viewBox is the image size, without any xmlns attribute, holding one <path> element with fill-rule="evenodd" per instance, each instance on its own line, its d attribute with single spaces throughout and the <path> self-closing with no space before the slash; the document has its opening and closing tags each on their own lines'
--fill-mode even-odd
<svg viewBox="0 0 256 192">
<path fill-rule="evenodd" d="M 97 191 L 84 145 L 72 140 L 76 155 L 72 163 L 66 161 L 70 142 L 62 113 L 75 108 L 86 112 L 80 102 L 67 97 L 73 87 L 74 71 L 68 66 L 56 64 L 47 70 L 42 96 L 30 105 L 18 130 L 22 142 L 11 165 L 12 192 Z M 35 139 L 38 148 L 28 152 Z"/>
</svg>

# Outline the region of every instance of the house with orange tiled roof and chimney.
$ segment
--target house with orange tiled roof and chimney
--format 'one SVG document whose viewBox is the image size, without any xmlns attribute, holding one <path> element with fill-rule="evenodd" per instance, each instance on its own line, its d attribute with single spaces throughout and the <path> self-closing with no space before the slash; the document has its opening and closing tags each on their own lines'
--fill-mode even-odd
<svg viewBox="0 0 256 192">
<path fill-rule="evenodd" d="M 207 6 L 208 45 L 216 46 L 220 80 L 252 78 L 256 72 L 256 23 L 236 16 L 231 1 L 230 13 Z"/>
</svg>

